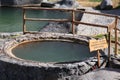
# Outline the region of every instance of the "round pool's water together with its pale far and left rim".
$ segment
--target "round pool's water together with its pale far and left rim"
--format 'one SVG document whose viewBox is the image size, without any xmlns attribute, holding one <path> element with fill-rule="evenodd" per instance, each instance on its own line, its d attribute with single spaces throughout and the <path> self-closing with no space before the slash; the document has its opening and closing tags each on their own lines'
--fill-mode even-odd
<svg viewBox="0 0 120 80">
<path fill-rule="evenodd" d="M 89 37 L 70 34 L 27 34 L 6 42 L 4 52 L 12 58 L 39 62 L 75 62 L 96 55 L 88 47 Z"/>
</svg>

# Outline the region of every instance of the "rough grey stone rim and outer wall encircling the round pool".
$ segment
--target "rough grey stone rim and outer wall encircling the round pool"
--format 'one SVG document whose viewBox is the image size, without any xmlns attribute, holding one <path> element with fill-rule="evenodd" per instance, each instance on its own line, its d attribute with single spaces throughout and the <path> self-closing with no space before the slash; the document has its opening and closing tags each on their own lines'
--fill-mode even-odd
<svg viewBox="0 0 120 80">
<path fill-rule="evenodd" d="M 19 43 L 24 43 L 28 41 L 38 41 L 38 40 L 65 40 L 71 41 L 74 40 L 75 42 L 81 41 L 84 44 L 88 45 L 90 37 L 87 36 L 78 36 L 72 34 L 61 34 L 61 33 L 39 33 L 39 34 L 26 34 L 26 35 L 19 35 L 12 39 L 6 40 L 2 47 L 2 53 L 0 54 L 0 59 L 3 65 L 8 68 L 8 70 L 15 70 L 15 73 L 22 73 L 25 71 L 25 74 L 31 73 L 39 73 L 38 76 L 52 77 L 56 76 L 55 78 L 61 78 L 64 76 L 79 76 L 83 75 L 97 64 L 97 57 L 90 57 L 84 61 L 77 61 L 77 62 L 67 62 L 67 63 L 43 63 L 38 61 L 31 61 L 31 60 L 21 60 L 19 58 L 14 57 L 10 54 L 10 50 L 18 45 Z M 101 66 L 106 61 L 106 57 L 100 58 Z M 30 70 L 30 72 L 28 72 Z M 11 72 L 11 71 L 10 71 Z M 46 75 L 47 74 L 47 75 Z M 54 75 L 54 76 L 53 76 Z M 32 75 L 33 76 L 33 75 Z M 56 79 L 55 79 L 56 80 Z"/>
</svg>

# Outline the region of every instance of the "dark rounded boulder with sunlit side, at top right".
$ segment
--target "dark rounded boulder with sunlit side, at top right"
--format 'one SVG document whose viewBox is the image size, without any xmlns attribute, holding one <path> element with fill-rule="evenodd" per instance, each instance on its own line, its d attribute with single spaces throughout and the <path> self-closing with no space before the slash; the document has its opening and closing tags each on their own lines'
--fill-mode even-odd
<svg viewBox="0 0 120 80">
<path fill-rule="evenodd" d="M 100 4 L 101 9 L 112 9 L 113 3 L 111 0 L 103 0 Z"/>
</svg>

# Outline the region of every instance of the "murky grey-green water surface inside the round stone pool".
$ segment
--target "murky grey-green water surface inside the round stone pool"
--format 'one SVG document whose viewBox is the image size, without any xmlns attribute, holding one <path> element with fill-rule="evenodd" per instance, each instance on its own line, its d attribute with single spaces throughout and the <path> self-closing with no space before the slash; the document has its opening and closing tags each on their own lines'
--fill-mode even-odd
<svg viewBox="0 0 120 80">
<path fill-rule="evenodd" d="M 77 42 L 44 40 L 20 44 L 12 53 L 21 59 L 40 62 L 82 61 L 95 56 L 88 46 Z"/>
</svg>

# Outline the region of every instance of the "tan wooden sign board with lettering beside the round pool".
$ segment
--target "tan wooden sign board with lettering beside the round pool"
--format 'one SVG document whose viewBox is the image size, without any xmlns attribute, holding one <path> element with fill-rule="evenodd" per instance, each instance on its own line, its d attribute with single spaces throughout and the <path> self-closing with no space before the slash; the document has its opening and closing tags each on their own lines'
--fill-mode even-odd
<svg viewBox="0 0 120 80">
<path fill-rule="evenodd" d="M 108 44 L 107 44 L 106 39 L 90 40 L 89 41 L 90 52 L 100 50 L 100 49 L 104 49 L 104 48 L 107 48 L 107 47 L 108 47 Z"/>
</svg>

